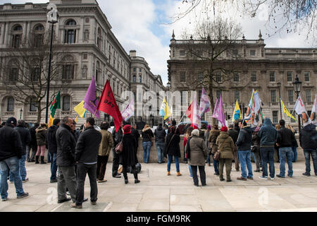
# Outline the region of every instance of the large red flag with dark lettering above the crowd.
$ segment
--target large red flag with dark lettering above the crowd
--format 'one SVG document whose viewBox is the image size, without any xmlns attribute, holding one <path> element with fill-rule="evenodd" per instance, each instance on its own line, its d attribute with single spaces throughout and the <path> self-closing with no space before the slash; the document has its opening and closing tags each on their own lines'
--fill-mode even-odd
<svg viewBox="0 0 317 226">
<path fill-rule="evenodd" d="M 102 90 L 97 109 L 113 117 L 116 132 L 118 132 L 123 119 L 108 80 L 106 81 L 106 85 L 104 85 L 104 90 Z"/>
</svg>

